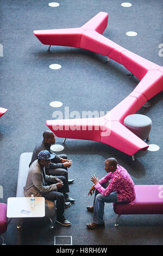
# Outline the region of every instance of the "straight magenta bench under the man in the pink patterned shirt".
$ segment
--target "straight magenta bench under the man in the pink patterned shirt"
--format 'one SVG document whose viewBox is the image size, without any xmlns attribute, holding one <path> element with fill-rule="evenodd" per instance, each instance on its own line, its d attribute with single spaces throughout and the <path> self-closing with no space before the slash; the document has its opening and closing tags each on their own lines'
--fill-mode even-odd
<svg viewBox="0 0 163 256">
<path fill-rule="evenodd" d="M 163 185 L 135 185 L 135 203 L 113 203 L 115 214 L 118 214 L 115 226 L 118 226 L 118 218 L 121 215 L 133 214 L 163 214 Z"/>
</svg>

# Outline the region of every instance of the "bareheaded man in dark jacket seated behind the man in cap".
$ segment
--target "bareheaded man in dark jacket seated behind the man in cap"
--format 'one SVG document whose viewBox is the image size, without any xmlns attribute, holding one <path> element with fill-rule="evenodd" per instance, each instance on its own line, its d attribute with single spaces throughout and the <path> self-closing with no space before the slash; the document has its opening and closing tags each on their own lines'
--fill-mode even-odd
<svg viewBox="0 0 163 256">
<path fill-rule="evenodd" d="M 34 148 L 32 160 L 29 164 L 30 165 L 37 159 L 37 156 L 41 150 L 48 150 L 50 154 L 51 152 L 51 145 L 55 144 L 55 136 L 52 131 L 45 131 L 43 132 L 43 139 L 39 141 Z M 54 154 L 54 153 L 53 153 Z M 74 203 L 75 200 L 71 198 L 67 193 L 70 192 L 68 184 L 71 184 L 74 180 L 68 180 L 68 172 L 67 168 L 70 168 L 72 164 L 71 160 L 67 160 L 67 155 L 56 155 L 54 154 L 54 159 L 52 159 L 51 163 L 48 167 L 46 167 L 46 174 L 47 175 L 57 175 L 57 176 L 64 176 L 66 179 L 66 201 Z"/>
</svg>

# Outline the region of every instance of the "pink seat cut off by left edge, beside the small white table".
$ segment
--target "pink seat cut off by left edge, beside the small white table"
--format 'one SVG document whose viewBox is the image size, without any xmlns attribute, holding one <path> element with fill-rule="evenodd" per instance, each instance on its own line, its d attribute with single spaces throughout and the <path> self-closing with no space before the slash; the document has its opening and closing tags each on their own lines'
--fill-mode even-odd
<svg viewBox="0 0 163 256">
<path fill-rule="evenodd" d="M 8 228 L 8 221 L 7 221 L 7 204 L 0 203 L 0 234 L 5 233 Z M 5 245 L 4 238 L 1 235 L 3 243 Z"/>
</svg>

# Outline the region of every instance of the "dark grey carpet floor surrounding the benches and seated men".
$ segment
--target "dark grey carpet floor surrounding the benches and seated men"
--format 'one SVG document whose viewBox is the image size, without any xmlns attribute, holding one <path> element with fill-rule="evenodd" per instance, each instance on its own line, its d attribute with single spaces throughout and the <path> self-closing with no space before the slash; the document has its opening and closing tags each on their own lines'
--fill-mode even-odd
<svg viewBox="0 0 163 256">
<path fill-rule="evenodd" d="M 99 11 L 109 14 L 106 38 L 128 50 L 162 66 L 159 56 L 162 43 L 162 7 L 159 0 L 130 1 L 131 8 L 121 7 L 123 1 L 111 0 L 60 0 L 58 8 L 48 6 L 48 0 L 1 1 L 0 43 L 3 45 L 1 62 L 1 107 L 9 111 L 0 119 L 0 185 L 3 198 L 16 195 L 18 161 L 21 153 L 32 152 L 46 120 L 53 119 L 56 110 L 51 101 L 61 101 L 58 110 L 70 112 L 109 111 L 123 100 L 139 83 L 128 77 L 129 71 L 106 57 L 80 48 L 42 45 L 33 30 L 80 27 Z M 137 32 L 131 38 L 127 31 Z M 57 63 L 59 70 L 49 69 Z M 126 168 L 135 184 L 162 184 L 162 92 L 154 96 L 151 107 L 137 113 L 148 115 L 153 126 L 149 144 L 157 144 L 159 151 L 140 151 L 136 160 L 109 145 L 93 141 L 67 139 L 61 153 L 68 155 L 73 164 L 69 178 L 70 196 L 76 203 L 65 210 L 71 227 L 56 224 L 49 230 L 49 222 L 23 220 L 21 230 L 12 220 L 5 233 L 8 245 L 54 245 L 54 236 L 72 236 L 73 245 L 161 245 L 163 224 L 160 215 L 121 216 L 120 226 L 114 226 L 116 215 L 111 204 L 105 205 L 105 229 L 87 230 L 86 223 L 92 214 L 86 206 L 93 198 L 87 196 L 91 186 L 90 176 L 105 175 L 104 161 L 115 157 Z M 57 138 L 62 144 L 62 138 Z"/>
</svg>

